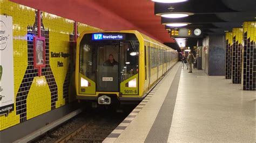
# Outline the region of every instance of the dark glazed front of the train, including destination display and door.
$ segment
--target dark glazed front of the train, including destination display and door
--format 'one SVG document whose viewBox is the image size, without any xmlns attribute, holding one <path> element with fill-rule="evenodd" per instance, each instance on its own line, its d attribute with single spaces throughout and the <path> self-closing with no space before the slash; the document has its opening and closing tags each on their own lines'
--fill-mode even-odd
<svg viewBox="0 0 256 143">
<path fill-rule="evenodd" d="M 97 91 L 119 91 L 120 82 L 138 73 L 138 61 L 134 34 L 85 34 L 80 42 L 80 74 L 95 82 Z"/>
</svg>

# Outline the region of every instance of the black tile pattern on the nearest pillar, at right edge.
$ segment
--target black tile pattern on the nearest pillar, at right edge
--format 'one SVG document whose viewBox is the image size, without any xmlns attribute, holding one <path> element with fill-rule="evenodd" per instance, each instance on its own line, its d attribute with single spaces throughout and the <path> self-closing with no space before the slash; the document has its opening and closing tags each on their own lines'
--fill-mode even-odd
<svg viewBox="0 0 256 143">
<path fill-rule="evenodd" d="M 247 32 L 244 33 L 244 44 L 242 89 L 256 90 L 256 46 L 255 41 L 247 37 Z"/>
</svg>

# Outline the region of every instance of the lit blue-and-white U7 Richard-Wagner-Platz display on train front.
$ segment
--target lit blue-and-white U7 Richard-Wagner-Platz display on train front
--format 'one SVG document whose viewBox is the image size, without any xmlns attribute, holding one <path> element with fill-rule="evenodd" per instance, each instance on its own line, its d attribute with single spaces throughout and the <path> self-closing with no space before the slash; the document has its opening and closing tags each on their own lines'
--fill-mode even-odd
<svg viewBox="0 0 256 143">
<path fill-rule="evenodd" d="M 121 33 L 93 33 L 92 40 L 124 40 L 125 35 Z"/>
</svg>

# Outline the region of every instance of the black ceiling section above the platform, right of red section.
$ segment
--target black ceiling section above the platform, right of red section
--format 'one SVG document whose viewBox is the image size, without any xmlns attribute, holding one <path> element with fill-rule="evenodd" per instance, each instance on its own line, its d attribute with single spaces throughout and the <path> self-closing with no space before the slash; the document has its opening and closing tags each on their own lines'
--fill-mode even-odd
<svg viewBox="0 0 256 143">
<path fill-rule="evenodd" d="M 204 34 L 224 34 L 234 27 L 242 27 L 242 22 L 255 21 L 255 0 L 188 0 L 174 4 L 155 4 L 155 14 L 170 12 L 190 12 L 185 18 L 161 18 L 161 23 L 192 23 L 190 26 L 203 26 Z M 167 28 L 167 27 L 166 27 Z"/>
</svg>

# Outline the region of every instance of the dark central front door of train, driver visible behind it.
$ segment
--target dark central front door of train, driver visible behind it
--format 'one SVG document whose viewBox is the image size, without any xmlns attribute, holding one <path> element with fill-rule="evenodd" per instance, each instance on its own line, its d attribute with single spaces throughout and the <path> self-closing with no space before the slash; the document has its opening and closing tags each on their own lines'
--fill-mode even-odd
<svg viewBox="0 0 256 143">
<path fill-rule="evenodd" d="M 118 44 L 98 45 L 97 91 L 119 91 Z"/>
</svg>

